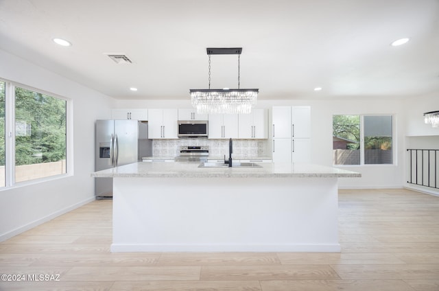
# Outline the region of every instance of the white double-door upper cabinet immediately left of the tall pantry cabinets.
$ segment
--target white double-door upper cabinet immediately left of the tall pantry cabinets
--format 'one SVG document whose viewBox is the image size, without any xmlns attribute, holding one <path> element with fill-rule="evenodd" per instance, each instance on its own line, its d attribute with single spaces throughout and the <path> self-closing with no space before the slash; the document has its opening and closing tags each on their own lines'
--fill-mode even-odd
<svg viewBox="0 0 439 291">
<path fill-rule="evenodd" d="M 267 139 L 268 138 L 268 110 L 253 109 L 250 114 L 239 114 L 239 139 Z"/>
</svg>

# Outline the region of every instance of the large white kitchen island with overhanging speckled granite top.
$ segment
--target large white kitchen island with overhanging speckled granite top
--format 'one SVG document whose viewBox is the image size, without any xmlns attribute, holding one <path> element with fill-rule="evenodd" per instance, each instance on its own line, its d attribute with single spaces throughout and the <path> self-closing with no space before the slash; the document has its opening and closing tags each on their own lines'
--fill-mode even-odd
<svg viewBox="0 0 439 291">
<path fill-rule="evenodd" d="M 309 164 L 133 163 L 113 178 L 112 252 L 338 252 L 337 179 Z"/>
</svg>

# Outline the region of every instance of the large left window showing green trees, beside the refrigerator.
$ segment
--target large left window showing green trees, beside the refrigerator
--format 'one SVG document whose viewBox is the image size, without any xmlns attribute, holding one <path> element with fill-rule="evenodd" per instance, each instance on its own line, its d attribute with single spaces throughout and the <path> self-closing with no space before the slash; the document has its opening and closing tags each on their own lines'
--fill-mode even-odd
<svg viewBox="0 0 439 291">
<path fill-rule="evenodd" d="M 0 82 L 0 127 L 0 187 L 67 172 L 66 100 Z"/>
</svg>

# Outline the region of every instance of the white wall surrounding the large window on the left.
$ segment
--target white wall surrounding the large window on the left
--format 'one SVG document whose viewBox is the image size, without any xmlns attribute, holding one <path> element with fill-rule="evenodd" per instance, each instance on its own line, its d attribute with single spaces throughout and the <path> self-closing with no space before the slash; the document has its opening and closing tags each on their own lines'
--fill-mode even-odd
<svg viewBox="0 0 439 291">
<path fill-rule="evenodd" d="M 95 119 L 110 118 L 113 100 L 0 50 L 0 78 L 67 97 L 73 104 L 68 150 L 71 175 L 0 189 L 0 241 L 94 200 Z M 72 164 L 73 162 L 73 164 Z"/>
</svg>

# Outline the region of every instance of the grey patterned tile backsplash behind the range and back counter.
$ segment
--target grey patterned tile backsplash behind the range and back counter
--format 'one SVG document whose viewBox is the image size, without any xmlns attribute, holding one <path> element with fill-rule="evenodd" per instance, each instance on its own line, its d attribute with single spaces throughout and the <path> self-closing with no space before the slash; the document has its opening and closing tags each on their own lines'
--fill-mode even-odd
<svg viewBox="0 0 439 291">
<path fill-rule="evenodd" d="M 265 139 L 233 139 L 233 156 L 255 158 L 269 156 L 268 140 Z M 180 146 L 209 146 L 209 156 L 228 155 L 228 139 L 154 139 L 152 141 L 153 156 L 178 156 Z"/>
</svg>

